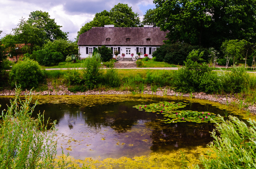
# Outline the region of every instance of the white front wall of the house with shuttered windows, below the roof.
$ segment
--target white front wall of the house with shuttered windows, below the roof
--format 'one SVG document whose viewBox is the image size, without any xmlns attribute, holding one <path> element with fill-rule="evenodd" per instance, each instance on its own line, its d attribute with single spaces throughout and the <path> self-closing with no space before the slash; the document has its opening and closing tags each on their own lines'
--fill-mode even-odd
<svg viewBox="0 0 256 169">
<path fill-rule="evenodd" d="M 86 54 L 86 47 L 88 47 L 88 54 Z M 80 49 L 80 58 L 87 58 L 89 55 L 92 55 L 92 52 L 94 48 L 98 48 L 99 46 L 79 46 Z M 156 50 L 156 48 L 159 48 L 159 46 L 106 46 L 109 48 L 113 48 L 114 50 L 118 50 L 120 48 L 120 54 L 125 54 L 125 58 L 131 58 L 131 54 L 133 53 L 134 56 L 137 56 L 137 48 L 139 52 L 142 52 L 140 55 L 141 58 L 144 58 L 144 54 L 147 54 L 149 58 L 152 58 L 152 53 Z M 149 54 L 151 53 L 151 54 Z M 115 55 L 113 54 L 113 58 L 115 58 Z"/>
</svg>

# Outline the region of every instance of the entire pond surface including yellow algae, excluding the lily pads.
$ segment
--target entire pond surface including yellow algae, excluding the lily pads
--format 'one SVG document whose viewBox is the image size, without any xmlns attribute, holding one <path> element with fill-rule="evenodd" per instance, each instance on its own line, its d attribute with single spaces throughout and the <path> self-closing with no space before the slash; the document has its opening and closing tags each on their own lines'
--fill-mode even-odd
<svg viewBox="0 0 256 169">
<path fill-rule="evenodd" d="M 133 108 L 135 105 L 174 101 L 186 103 L 179 110 L 236 115 L 240 119 L 247 116 L 245 112 L 237 115 L 238 110 L 219 103 L 182 97 L 93 95 L 34 96 L 33 99 L 39 101 L 35 116 L 45 111 L 45 119 L 57 120 L 58 153 L 62 147 L 74 159 L 86 158 L 86 164 L 92 168 L 100 165 L 179 168 L 183 153 L 191 165 L 197 164 L 198 157 L 208 150 L 206 144 L 212 141 L 209 132 L 214 128 L 213 123 L 166 124 L 161 113 L 139 111 Z M 8 98 L 0 98 L 0 104 L 7 102 Z"/>
</svg>

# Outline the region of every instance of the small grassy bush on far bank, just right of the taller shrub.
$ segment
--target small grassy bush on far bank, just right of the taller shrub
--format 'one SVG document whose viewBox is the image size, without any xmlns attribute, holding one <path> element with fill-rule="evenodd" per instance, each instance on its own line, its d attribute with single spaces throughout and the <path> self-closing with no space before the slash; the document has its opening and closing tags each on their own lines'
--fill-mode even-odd
<svg viewBox="0 0 256 169">
<path fill-rule="evenodd" d="M 104 82 L 108 87 L 119 87 L 121 79 L 118 75 L 117 69 L 107 69 L 106 74 L 104 74 Z"/>
</svg>

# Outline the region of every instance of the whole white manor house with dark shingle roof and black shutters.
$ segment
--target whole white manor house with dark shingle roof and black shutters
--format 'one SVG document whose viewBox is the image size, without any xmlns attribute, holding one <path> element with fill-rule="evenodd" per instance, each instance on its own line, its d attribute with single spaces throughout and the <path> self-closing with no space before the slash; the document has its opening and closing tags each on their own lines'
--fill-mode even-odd
<svg viewBox="0 0 256 169">
<path fill-rule="evenodd" d="M 114 27 L 114 25 L 105 25 L 105 27 L 92 27 L 87 32 L 81 34 L 77 45 L 81 58 L 92 55 L 93 50 L 105 45 L 113 51 L 119 51 L 119 56 L 125 54 L 125 58 L 131 58 L 131 54 L 137 56 L 141 53 L 141 58 L 147 54 L 152 58 L 152 53 L 163 45 L 167 40 L 166 33 L 159 27 L 144 25 L 144 27 Z"/>
</svg>

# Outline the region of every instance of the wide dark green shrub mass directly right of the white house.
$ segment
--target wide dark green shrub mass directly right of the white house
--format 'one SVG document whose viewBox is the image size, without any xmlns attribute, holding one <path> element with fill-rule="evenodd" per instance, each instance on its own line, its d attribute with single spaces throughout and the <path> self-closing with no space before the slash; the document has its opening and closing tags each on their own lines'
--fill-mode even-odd
<svg viewBox="0 0 256 169">
<path fill-rule="evenodd" d="M 188 54 L 193 49 L 199 49 L 199 51 L 206 51 L 203 48 L 198 46 L 191 46 L 186 43 L 173 43 L 173 44 L 165 44 L 160 48 L 157 48 L 155 52 L 153 52 L 152 57 L 156 57 L 156 61 L 158 62 L 166 62 L 175 65 L 183 65 L 186 60 Z M 208 52 L 204 52 L 202 58 L 208 61 Z"/>
</svg>

